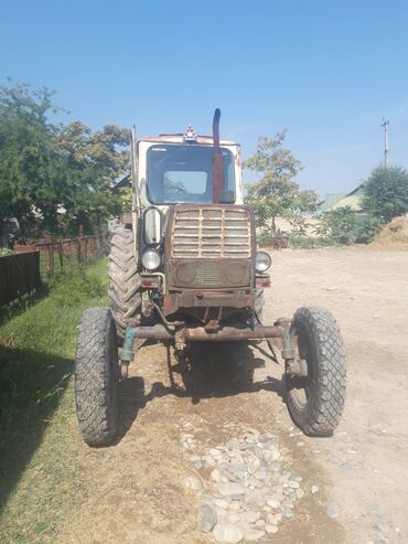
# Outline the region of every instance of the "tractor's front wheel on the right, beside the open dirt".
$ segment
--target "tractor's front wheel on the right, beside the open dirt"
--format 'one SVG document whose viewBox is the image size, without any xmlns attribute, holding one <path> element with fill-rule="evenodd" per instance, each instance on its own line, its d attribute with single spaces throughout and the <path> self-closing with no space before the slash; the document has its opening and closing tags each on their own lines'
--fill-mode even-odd
<svg viewBox="0 0 408 544">
<path fill-rule="evenodd" d="M 337 323 L 323 308 L 300 308 L 291 333 L 307 375 L 293 375 L 286 369 L 289 413 L 304 434 L 331 436 L 345 399 L 345 355 Z"/>
</svg>

